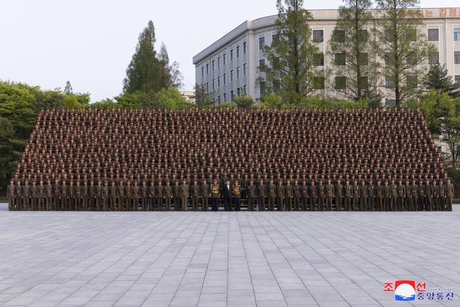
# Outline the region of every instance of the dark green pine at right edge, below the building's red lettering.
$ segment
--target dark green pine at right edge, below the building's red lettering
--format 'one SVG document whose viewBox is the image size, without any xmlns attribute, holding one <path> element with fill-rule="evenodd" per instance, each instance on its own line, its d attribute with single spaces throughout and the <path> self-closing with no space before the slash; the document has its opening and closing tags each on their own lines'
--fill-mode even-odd
<svg viewBox="0 0 460 307">
<path fill-rule="evenodd" d="M 428 75 L 422 85 L 427 92 L 434 90 L 436 93 L 447 93 L 450 97 L 460 96 L 460 84 L 452 82 L 452 77 L 445 64 L 430 65 Z"/>
</svg>

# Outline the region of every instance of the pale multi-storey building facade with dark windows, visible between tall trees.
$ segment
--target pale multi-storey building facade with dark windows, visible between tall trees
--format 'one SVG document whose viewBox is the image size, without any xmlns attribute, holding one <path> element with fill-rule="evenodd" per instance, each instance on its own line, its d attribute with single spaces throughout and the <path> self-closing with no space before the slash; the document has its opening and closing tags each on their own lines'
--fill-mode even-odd
<svg viewBox="0 0 460 307">
<path fill-rule="evenodd" d="M 440 62 L 446 64 L 449 74 L 455 82 L 460 83 L 460 8 L 417 9 L 424 20 L 424 31 L 428 40 L 438 49 L 431 54 L 427 65 Z M 319 40 L 320 52 L 326 54 L 328 42 L 334 30 L 337 10 L 311 10 L 313 20 L 309 22 L 313 38 Z M 274 22 L 277 15 L 247 20 L 228 34 L 221 37 L 211 46 L 193 57 L 195 65 L 195 82 L 206 84 L 208 91 L 215 91 L 217 103 L 233 101 L 235 95 L 245 91 L 254 99 L 261 96 L 256 87 L 256 78 L 263 76 L 257 68 L 266 59 L 262 49 L 270 45 L 276 33 Z M 371 23 L 376 24 L 376 20 Z M 333 59 L 327 56 L 324 65 L 333 67 Z M 334 76 L 332 76 L 334 77 Z M 380 82 L 379 82 L 380 84 Z M 382 82 L 383 84 L 383 82 Z M 380 92 L 392 105 L 393 99 L 383 85 Z M 335 89 L 326 89 L 334 93 Z M 444 148 L 443 148 L 444 149 Z"/>
</svg>

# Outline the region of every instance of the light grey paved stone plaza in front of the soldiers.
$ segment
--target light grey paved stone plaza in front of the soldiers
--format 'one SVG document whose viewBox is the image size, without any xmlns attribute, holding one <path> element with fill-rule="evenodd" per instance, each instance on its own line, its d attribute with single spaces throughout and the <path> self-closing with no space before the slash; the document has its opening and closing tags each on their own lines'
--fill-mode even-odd
<svg viewBox="0 0 460 307">
<path fill-rule="evenodd" d="M 458 306 L 454 212 L 8 212 L 3 306 Z M 384 282 L 452 288 L 395 301 Z"/>
</svg>

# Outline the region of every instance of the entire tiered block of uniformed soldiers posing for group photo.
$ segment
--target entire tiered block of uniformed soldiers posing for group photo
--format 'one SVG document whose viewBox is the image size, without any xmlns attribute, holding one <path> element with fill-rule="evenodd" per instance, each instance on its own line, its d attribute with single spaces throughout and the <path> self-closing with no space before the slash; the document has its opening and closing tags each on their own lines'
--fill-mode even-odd
<svg viewBox="0 0 460 307">
<path fill-rule="evenodd" d="M 228 184 L 227 184 L 228 183 Z M 10 210 L 451 210 L 419 109 L 43 109 Z"/>
</svg>

